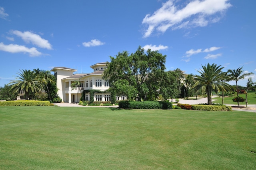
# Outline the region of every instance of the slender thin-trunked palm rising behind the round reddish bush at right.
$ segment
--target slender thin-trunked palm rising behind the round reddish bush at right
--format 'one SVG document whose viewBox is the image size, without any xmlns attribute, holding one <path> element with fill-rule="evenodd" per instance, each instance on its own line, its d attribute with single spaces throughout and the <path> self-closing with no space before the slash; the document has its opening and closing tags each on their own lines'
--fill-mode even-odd
<svg viewBox="0 0 256 170">
<path fill-rule="evenodd" d="M 250 75 L 254 74 L 252 72 L 242 74 L 244 72 L 244 70 L 242 70 L 242 68 L 243 68 L 243 66 L 241 68 L 239 67 L 236 70 L 228 69 L 228 76 L 230 77 L 231 80 L 235 80 L 236 81 L 236 94 L 237 94 L 237 96 L 238 96 L 238 86 L 237 86 L 238 80 L 242 80 L 246 76 L 250 76 Z M 239 106 L 239 102 L 238 102 L 238 106 Z"/>
</svg>

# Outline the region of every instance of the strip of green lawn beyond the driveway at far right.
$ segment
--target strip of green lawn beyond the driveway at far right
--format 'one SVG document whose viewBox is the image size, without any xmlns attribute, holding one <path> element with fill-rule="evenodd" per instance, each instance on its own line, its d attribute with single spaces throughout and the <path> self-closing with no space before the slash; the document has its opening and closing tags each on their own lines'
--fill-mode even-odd
<svg viewBox="0 0 256 170">
<path fill-rule="evenodd" d="M 239 96 L 245 98 L 245 94 L 239 94 Z M 224 104 L 234 104 L 237 105 L 236 102 L 232 101 L 232 98 L 234 98 L 236 96 L 233 97 L 224 97 Z M 213 98 L 213 103 L 222 103 L 222 97 L 216 97 Z M 256 94 L 255 92 L 248 92 L 248 96 L 247 96 L 247 100 L 248 100 L 248 104 L 256 104 Z M 245 102 L 240 102 L 240 104 L 245 104 Z"/>
</svg>

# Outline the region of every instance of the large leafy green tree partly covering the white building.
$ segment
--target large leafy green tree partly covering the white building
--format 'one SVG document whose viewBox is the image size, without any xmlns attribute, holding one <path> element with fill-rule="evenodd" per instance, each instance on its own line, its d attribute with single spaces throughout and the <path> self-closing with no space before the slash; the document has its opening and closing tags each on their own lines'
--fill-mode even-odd
<svg viewBox="0 0 256 170">
<path fill-rule="evenodd" d="M 165 55 L 150 49 L 145 52 L 144 48 L 139 46 L 135 53 L 129 55 L 127 51 L 119 52 L 116 58 L 110 56 L 110 60 L 103 74 L 103 79 L 108 80 L 110 86 L 114 83 L 117 86 L 116 83 L 119 81 L 118 86 L 130 88 L 128 91 L 133 94 L 130 98 L 137 98 L 139 101 L 150 100 L 152 96 L 156 96 L 156 90 L 160 88 L 160 80 L 165 70 Z M 120 80 L 126 80 L 128 86 Z M 134 93 L 134 89 L 137 94 Z"/>
</svg>

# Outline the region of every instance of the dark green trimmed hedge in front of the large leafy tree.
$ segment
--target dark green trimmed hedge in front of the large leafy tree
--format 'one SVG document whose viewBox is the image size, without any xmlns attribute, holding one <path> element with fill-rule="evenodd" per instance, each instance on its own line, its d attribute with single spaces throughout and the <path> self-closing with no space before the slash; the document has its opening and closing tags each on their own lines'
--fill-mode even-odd
<svg viewBox="0 0 256 170">
<path fill-rule="evenodd" d="M 172 109 L 172 103 L 169 101 L 119 101 L 119 108 L 126 109 Z"/>
</svg>

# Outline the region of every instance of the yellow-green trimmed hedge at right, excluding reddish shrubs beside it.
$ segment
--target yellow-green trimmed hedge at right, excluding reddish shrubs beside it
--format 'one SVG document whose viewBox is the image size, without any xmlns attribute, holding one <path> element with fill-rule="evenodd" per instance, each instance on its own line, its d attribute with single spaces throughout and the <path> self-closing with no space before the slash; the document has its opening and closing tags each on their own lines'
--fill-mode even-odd
<svg viewBox="0 0 256 170">
<path fill-rule="evenodd" d="M 206 110 L 206 111 L 232 111 L 231 106 L 218 106 L 218 105 L 192 105 L 193 110 Z"/>
</svg>

